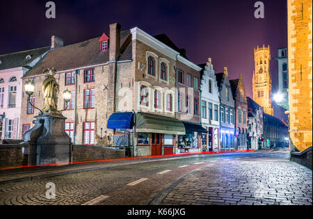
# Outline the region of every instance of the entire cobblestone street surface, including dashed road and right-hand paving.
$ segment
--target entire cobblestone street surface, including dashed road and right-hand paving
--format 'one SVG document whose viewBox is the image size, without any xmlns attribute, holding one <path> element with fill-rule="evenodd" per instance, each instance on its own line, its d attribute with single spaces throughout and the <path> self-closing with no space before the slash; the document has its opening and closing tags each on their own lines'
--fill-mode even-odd
<svg viewBox="0 0 313 219">
<path fill-rule="evenodd" d="M 312 171 L 287 158 L 281 152 L 186 157 L 0 184 L 0 204 L 312 204 Z M 54 200 L 45 196 L 48 182 L 56 185 Z M 266 197 L 255 193 L 259 188 Z"/>
</svg>

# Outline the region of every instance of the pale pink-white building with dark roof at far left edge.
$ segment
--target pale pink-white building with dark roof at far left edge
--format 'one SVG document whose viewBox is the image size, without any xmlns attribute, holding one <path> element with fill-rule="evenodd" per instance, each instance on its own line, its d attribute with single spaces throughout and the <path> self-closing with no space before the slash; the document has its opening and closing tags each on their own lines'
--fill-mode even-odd
<svg viewBox="0 0 313 219">
<path fill-rule="evenodd" d="M 23 93 L 22 77 L 33 68 L 53 48 L 54 39 L 51 38 L 51 47 L 19 51 L 13 54 L 0 55 L 0 140 L 21 139 L 22 133 L 27 131 L 31 124 L 20 126 L 21 113 L 33 111 L 33 108 L 22 108 Z M 33 102 L 34 99 L 31 99 Z"/>
</svg>

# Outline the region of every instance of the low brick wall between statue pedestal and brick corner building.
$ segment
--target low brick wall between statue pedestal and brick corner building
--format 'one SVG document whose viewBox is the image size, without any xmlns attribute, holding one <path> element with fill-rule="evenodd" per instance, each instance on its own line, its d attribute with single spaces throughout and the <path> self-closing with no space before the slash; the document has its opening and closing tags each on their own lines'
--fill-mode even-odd
<svg viewBox="0 0 313 219">
<path fill-rule="evenodd" d="M 95 161 L 106 159 L 121 159 L 125 157 L 125 149 L 97 147 L 87 145 L 74 145 L 73 162 Z"/>
</svg>

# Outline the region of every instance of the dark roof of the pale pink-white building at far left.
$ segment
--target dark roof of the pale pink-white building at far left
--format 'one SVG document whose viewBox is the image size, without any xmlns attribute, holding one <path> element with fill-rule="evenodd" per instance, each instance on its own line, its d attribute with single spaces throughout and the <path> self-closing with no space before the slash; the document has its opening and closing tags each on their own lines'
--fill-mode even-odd
<svg viewBox="0 0 313 219">
<path fill-rule="evenodd" d="M 0 55 L 0 70 L 6 70 L 13 67 L 29 67 L 29 64 L 48 51 L 50 47 L 42 47 L 40 49 L 31 49 L 26 51 L 19 51 L 13 54 Z M 26 59 L 29 56 L 29 59 Z"/>
</svg>

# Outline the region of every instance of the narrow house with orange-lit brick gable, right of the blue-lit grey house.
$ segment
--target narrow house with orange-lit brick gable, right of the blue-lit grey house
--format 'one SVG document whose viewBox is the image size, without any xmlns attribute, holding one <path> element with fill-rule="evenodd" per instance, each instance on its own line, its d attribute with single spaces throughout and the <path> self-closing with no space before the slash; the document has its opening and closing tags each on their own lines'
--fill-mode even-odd
<svg viewBox="0 0 313 219">
<path fill-rule="evenodd" d="M 248 104 L 242 74 L 239 79 L 230 80 L 232 95 L 235 104 L 235 135 L 234 147 L 236 150 L 247 149 L 248 146 Z"/>
</svg>

